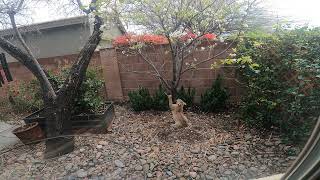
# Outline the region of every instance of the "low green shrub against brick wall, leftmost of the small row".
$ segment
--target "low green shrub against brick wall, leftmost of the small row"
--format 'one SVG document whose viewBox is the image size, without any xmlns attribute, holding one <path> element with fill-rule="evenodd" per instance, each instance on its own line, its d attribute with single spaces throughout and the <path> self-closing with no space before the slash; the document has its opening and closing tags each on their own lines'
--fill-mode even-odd
<svg viewBox="0 0 320 180">
<path fill-rule="evenodd" d="M 130 91 L 128 96 L 134 111 L 146 111 L 152 108 L 152 97 L 147 88 L 139 87 L 136 91 Z"/>
</svg>

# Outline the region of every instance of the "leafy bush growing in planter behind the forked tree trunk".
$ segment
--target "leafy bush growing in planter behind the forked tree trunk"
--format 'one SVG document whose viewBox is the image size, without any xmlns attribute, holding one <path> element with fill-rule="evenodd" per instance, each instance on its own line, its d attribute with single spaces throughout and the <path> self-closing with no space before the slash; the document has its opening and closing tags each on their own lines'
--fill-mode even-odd
<svg viewBox="0 0 320 180">
<path fill-rule="evenodd" d="M 94 113 L 103 105 L 104 101 L 101 96 L 101 90 L 104 83 L 99 77 L 98 71 L 98 69 L 87 70 L 79 94 L 75 99 L 75 107 L 72 114 Z M 57 88 L 60 88 L 68 73 L 68 68 L 63 69 L 60 75 L 49 73 L 49 79 L 55 82 Z M 9 95 L 12 97 L 11 104 L 13 109 L 18 112 L 32 112 L 41 109 L 43 107 L 41 93 L 40 84 L 36 79 L 22 83 L 17 88 L 11 88 Z"/>
</svg>

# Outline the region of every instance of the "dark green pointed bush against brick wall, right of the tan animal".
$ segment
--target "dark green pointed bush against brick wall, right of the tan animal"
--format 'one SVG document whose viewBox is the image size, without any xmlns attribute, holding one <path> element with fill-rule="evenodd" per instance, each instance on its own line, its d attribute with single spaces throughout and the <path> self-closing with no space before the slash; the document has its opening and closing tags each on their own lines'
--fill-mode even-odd
<svg viewBox="0 0 320 180">
<path fill-rule="evenodd" d="M 201 95 L 200 108 L 204 112 L 220 111 L 226 107 L 229 94 L 222 86 L 222 77 L 219 75 L 210 89 Z"/>
</svg>

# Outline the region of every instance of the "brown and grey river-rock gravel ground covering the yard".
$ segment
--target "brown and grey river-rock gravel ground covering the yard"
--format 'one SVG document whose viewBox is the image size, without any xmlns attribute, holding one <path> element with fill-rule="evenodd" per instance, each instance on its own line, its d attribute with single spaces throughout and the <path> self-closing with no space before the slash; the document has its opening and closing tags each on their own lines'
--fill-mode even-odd
<svg viewBox="0 0 320 180">
<path fill-rule="evenodd" d="M 43 143 L 2 152 L 0 179 L 250 179 L 285 172 L 299 151 L 232 113 L 186 114 L 191 126 L 174 129 L 169 112 L 116 106 L 112 133 L 77 136 L 70 154 L 44 160 Z"/>
</svg>

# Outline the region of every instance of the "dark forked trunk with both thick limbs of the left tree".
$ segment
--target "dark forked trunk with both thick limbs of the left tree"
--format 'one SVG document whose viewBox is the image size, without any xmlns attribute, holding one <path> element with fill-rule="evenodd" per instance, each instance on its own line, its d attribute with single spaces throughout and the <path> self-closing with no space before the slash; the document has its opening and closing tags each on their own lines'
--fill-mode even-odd
<svg viewBox="0 0 320 180">
<path fill-rule="evenodd" d="M 0 47 L 28 68 L 40 81 L 41 88 L 45 92 L 43 96 L 47 127 L 45 133 L 48 138 L 46 140 L 46 158 L 63 155 L 72 152 L 74 149 L 73 138 L 63 136 L 71 134 L 71 112 L 74 107 L 74 99 L 77 96 L 77 90 L 82 84 L 91 57 L 101 40 L 102 31 L 99 30 L 99 24 L 95 24 L 95 26 L 93 34 L 81 50 L 78 60 L 73 65 L 63 87 L 56 92 L 56 97 L 46 94 L 49 92 L 47 86 L 44 85 L 46 84 L 44 81 L 47 76 L 45 75 L 44 77 L 40 73 L 39 66 L 34 63 L 32 57 L 0 37 Z"/>
</svg>

